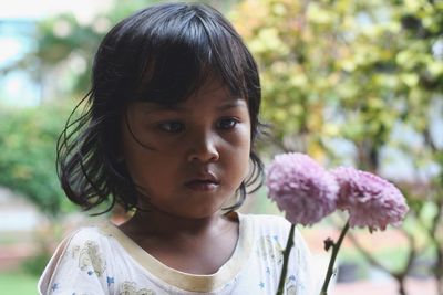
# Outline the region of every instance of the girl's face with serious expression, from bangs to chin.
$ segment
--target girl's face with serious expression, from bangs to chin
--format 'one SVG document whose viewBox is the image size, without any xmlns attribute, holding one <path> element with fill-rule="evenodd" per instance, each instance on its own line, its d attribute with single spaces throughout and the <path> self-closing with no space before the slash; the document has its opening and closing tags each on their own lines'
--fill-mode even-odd
<svg viewBox="0 0 443 295">
<path fill-rule="evenodd" d="M 218 211 L 249 168 L 247 102 L 213 82 L 171 107 L 133 103 L 123 125 L 123 150 L 134 182 L 154 210 L 182 218 Z"/>
</svg>

